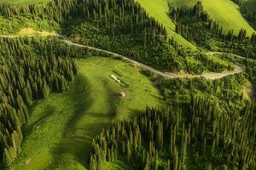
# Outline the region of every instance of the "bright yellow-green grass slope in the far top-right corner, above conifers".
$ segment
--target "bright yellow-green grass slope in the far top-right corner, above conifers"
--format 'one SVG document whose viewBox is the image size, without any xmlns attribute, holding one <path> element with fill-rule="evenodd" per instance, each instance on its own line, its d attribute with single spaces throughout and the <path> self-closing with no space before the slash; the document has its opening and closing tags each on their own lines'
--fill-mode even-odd
<svg viewBox="0 0 256 170">
<path fill-rule="evenodd" d="M 193 6 L 198 0 L 169 0 L 172 7 L 176 6 Z M 223 26 L 224 30 L 234 29 L 236 33 L 240 31 L 241 28 L 247 30 L 247 35 L 251 36 L 253 33 L 253 27 L 247 23 L 236 3 L 230 0 L 201 0 L 204 10 L 210 14 L 213 20 L 217 20 L 220 26 Z"/>
</svg>

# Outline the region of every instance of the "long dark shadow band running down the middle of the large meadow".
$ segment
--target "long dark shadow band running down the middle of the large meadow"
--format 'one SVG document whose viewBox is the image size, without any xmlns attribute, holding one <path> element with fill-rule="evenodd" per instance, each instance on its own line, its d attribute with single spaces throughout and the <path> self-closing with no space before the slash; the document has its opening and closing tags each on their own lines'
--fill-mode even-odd
<svg viewBox="0 0 256 170">
<path fill-rule="evenodd" d="M 73 150 L 73 147 L 77 144 L 78 141 L 84 140 L 81 136 L 76 136 L 73 133 L 73 125 L 77 121 L 79 121 L 82 116 L 84 116 L 83 113 L 87 111 L 93 103 L 92 99 L 90 98 L 90 84 L 84 76 L 78 75 L 75 78 L 73 82 L 73 87 L 70 89 L 68 95 L 74 107 L 73 116 L 70 117 L 67 125 L 65 126 L 61 142 L 55 144 L 55 147 L 52 149 L 52 155 L 54 156 L 53 161 L 45 169 L 58 168 L 61 164 L 62 154 L 69 154 L 68 152 L 75 152 L 75 150 Z"/>
</svg>

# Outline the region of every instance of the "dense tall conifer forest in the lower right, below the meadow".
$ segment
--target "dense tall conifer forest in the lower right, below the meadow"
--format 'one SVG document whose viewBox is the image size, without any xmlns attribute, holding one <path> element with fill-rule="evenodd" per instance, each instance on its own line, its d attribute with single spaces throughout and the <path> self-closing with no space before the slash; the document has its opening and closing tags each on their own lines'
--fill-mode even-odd
<svg viewBox="0 0 256 170">
<path fill-rule="evenodd" d="M 253 104 L 222 111 L 218 103 L 192 96 L 186 108 L 147 108 L 133 121 L 114 122 L 93 140 L 89 169 L 118 159 L 145 170 L 256 167 Z"/>
</svg>

